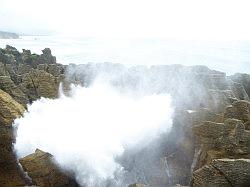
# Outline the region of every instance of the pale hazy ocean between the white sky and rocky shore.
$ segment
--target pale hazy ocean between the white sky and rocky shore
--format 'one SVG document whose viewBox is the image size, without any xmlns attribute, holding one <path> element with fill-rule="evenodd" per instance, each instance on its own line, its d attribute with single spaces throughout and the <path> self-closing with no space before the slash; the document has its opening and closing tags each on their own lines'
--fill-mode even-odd
<svg viewBox="0 0 250 187">
<path fill-rule="evenodd" d="M 195 42 L 161 38 L 87 38 L 67 36 L 22 36 L 0 39 L 0 47 L 41 53 L 52 50 L 57 62 L 86 64 L 112 62 L 131 65 L 206 65 L 227 74 L 250 73 L 250 42 Z"/>
</svg>

